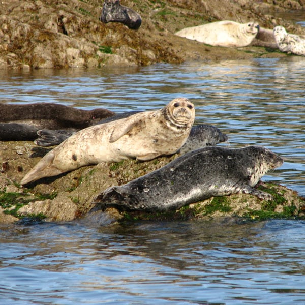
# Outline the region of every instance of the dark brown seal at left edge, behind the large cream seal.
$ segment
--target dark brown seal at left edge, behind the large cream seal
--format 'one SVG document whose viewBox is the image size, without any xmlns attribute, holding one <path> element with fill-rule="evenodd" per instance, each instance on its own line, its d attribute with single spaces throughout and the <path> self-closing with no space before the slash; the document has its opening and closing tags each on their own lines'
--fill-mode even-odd
<svg viewBox="0 0 305 305">
<path fill-rule="evenodd" d="M 43 128 L 77 131 L 113 115 L 103 108 L 83 110 L 54 103 L 0 104 L 0 141 L 31 141 Z"/>
</svg>

